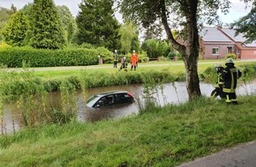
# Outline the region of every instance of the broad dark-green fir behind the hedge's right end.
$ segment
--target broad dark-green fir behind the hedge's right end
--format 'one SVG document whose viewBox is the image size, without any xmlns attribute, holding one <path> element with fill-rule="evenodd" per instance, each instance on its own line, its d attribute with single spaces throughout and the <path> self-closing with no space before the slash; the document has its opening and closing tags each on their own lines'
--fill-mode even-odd
<svg viewBox="0 0 256 167">
<path fill-rule="evenodd" d="M 79 4 L 77 40 L 79 44 L 90 43 L 96 47 L 114 50 L 119 47 L 120 25 L 114 16 L 112 0 L 83 0 Z"/>
</svg>

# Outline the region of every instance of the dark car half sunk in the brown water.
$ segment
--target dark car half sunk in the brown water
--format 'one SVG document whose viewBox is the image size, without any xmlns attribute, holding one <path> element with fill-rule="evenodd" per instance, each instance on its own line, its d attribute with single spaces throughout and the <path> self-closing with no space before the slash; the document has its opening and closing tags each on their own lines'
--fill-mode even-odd
<svg viewBox="0 0 256 167">
<path fill-rule="evenodd" d="M 88 98 L 87 106 L 95 108 L 105 105 L 133 103 L 134 101 L 134 96 L 128 91 L 108 91 Z"/>
</svg>

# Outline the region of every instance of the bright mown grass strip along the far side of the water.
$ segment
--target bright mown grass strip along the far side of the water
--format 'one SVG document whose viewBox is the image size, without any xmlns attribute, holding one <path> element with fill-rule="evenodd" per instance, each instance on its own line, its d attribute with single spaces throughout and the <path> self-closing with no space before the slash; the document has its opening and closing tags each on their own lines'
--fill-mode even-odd
<svg viewBox="0 0 256 167">
<path fill-rule="evenodd" d="M 224 60 L 207 60 L 207 61 L 199 61 L 198 69 L 199 73 L 203 72 L 205 69 L 209 67 L 214 67 L 216 63 L 221 63 L 224 66 Z M 240 66 L 246 63 L 253 63 L 253 62 L 241 62 L 237 61 L 236 65 Z M 121 64 L 118 63 L 118 66 Z M 86 69 L 89 72 L 95 72 L 95 71 L 105 71 L 108 73 L 116 73 L 118 72 L 118 69 L 112 68 L 112 64 L 102 64 L 102 65 L 94 65 L 94 66 L 80 66 L 80 67 L 61 67 L 61 68 L 31 68 L 31 70 L 34 70 L 35 76 L 41 77 L 43 79 L 59 79 L 63 77 L 68 76 L 79 76 L 81 69 Z M 130 64 L 128 65 L 128 72 L 134 72 L 129 71 Z M 141 70 L 162 70 L 162 69 L 169 69 L 172 73 L 178 73 L 178 72 L 184 72 L 184 62 L 177 61 L 177 62 L 142 62 L 139 63 L 139 68 L 137 71 Z"/>
</svg>

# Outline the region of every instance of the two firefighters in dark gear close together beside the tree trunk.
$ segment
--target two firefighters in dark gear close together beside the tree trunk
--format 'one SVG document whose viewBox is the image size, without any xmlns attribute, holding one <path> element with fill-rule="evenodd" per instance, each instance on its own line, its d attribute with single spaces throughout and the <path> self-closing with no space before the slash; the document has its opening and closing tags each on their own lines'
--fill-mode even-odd
<svg viewBox="0 0 256 167">
<path fill-rule="evenodd" d="M 225 68 L 221 64 L 215 65 L 218 76 L 211 97 L 220 96 L 225 98 L 227 104 L 237 105 L 237 79 L 242 76 L 242 72 L 235 67 L 235 61 L 232 58 L 228 58 L 225 65 Z"/>
</svg>

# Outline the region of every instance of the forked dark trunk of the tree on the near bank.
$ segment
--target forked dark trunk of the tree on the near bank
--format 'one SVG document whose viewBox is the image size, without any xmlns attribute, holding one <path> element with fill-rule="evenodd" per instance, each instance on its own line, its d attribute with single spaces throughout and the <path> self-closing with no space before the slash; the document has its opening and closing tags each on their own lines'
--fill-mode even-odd
<svg viewBox="0 0 256 167">
<path fill-rule="evenodd" d="M 176 48 L 183 56 L 185 72 L 186 72 L 186 89 L 188 93 L 189 100 L 198 98 L 201 96 L 200 91 L 200 80 L 198 75 L 198 57 L 199 57 L 199 34 L 197 27 L 197 4 L 194 1 L 188 0 L 188 5 L 190 5 L 189 11 L 184 11 L 185 18 L 187 21 L 186 25 L 186 35 L 187 40 L 184 44 L 178 43 L 171 34 L 171 30 L 168 25 L 165 2 L 162 0 L 161 4 L 161 17 L 162 25 L 164 26 L 165 32 L 167 33 L 168 40 L 172 44 L 172 47 Z"/>
</svg>

